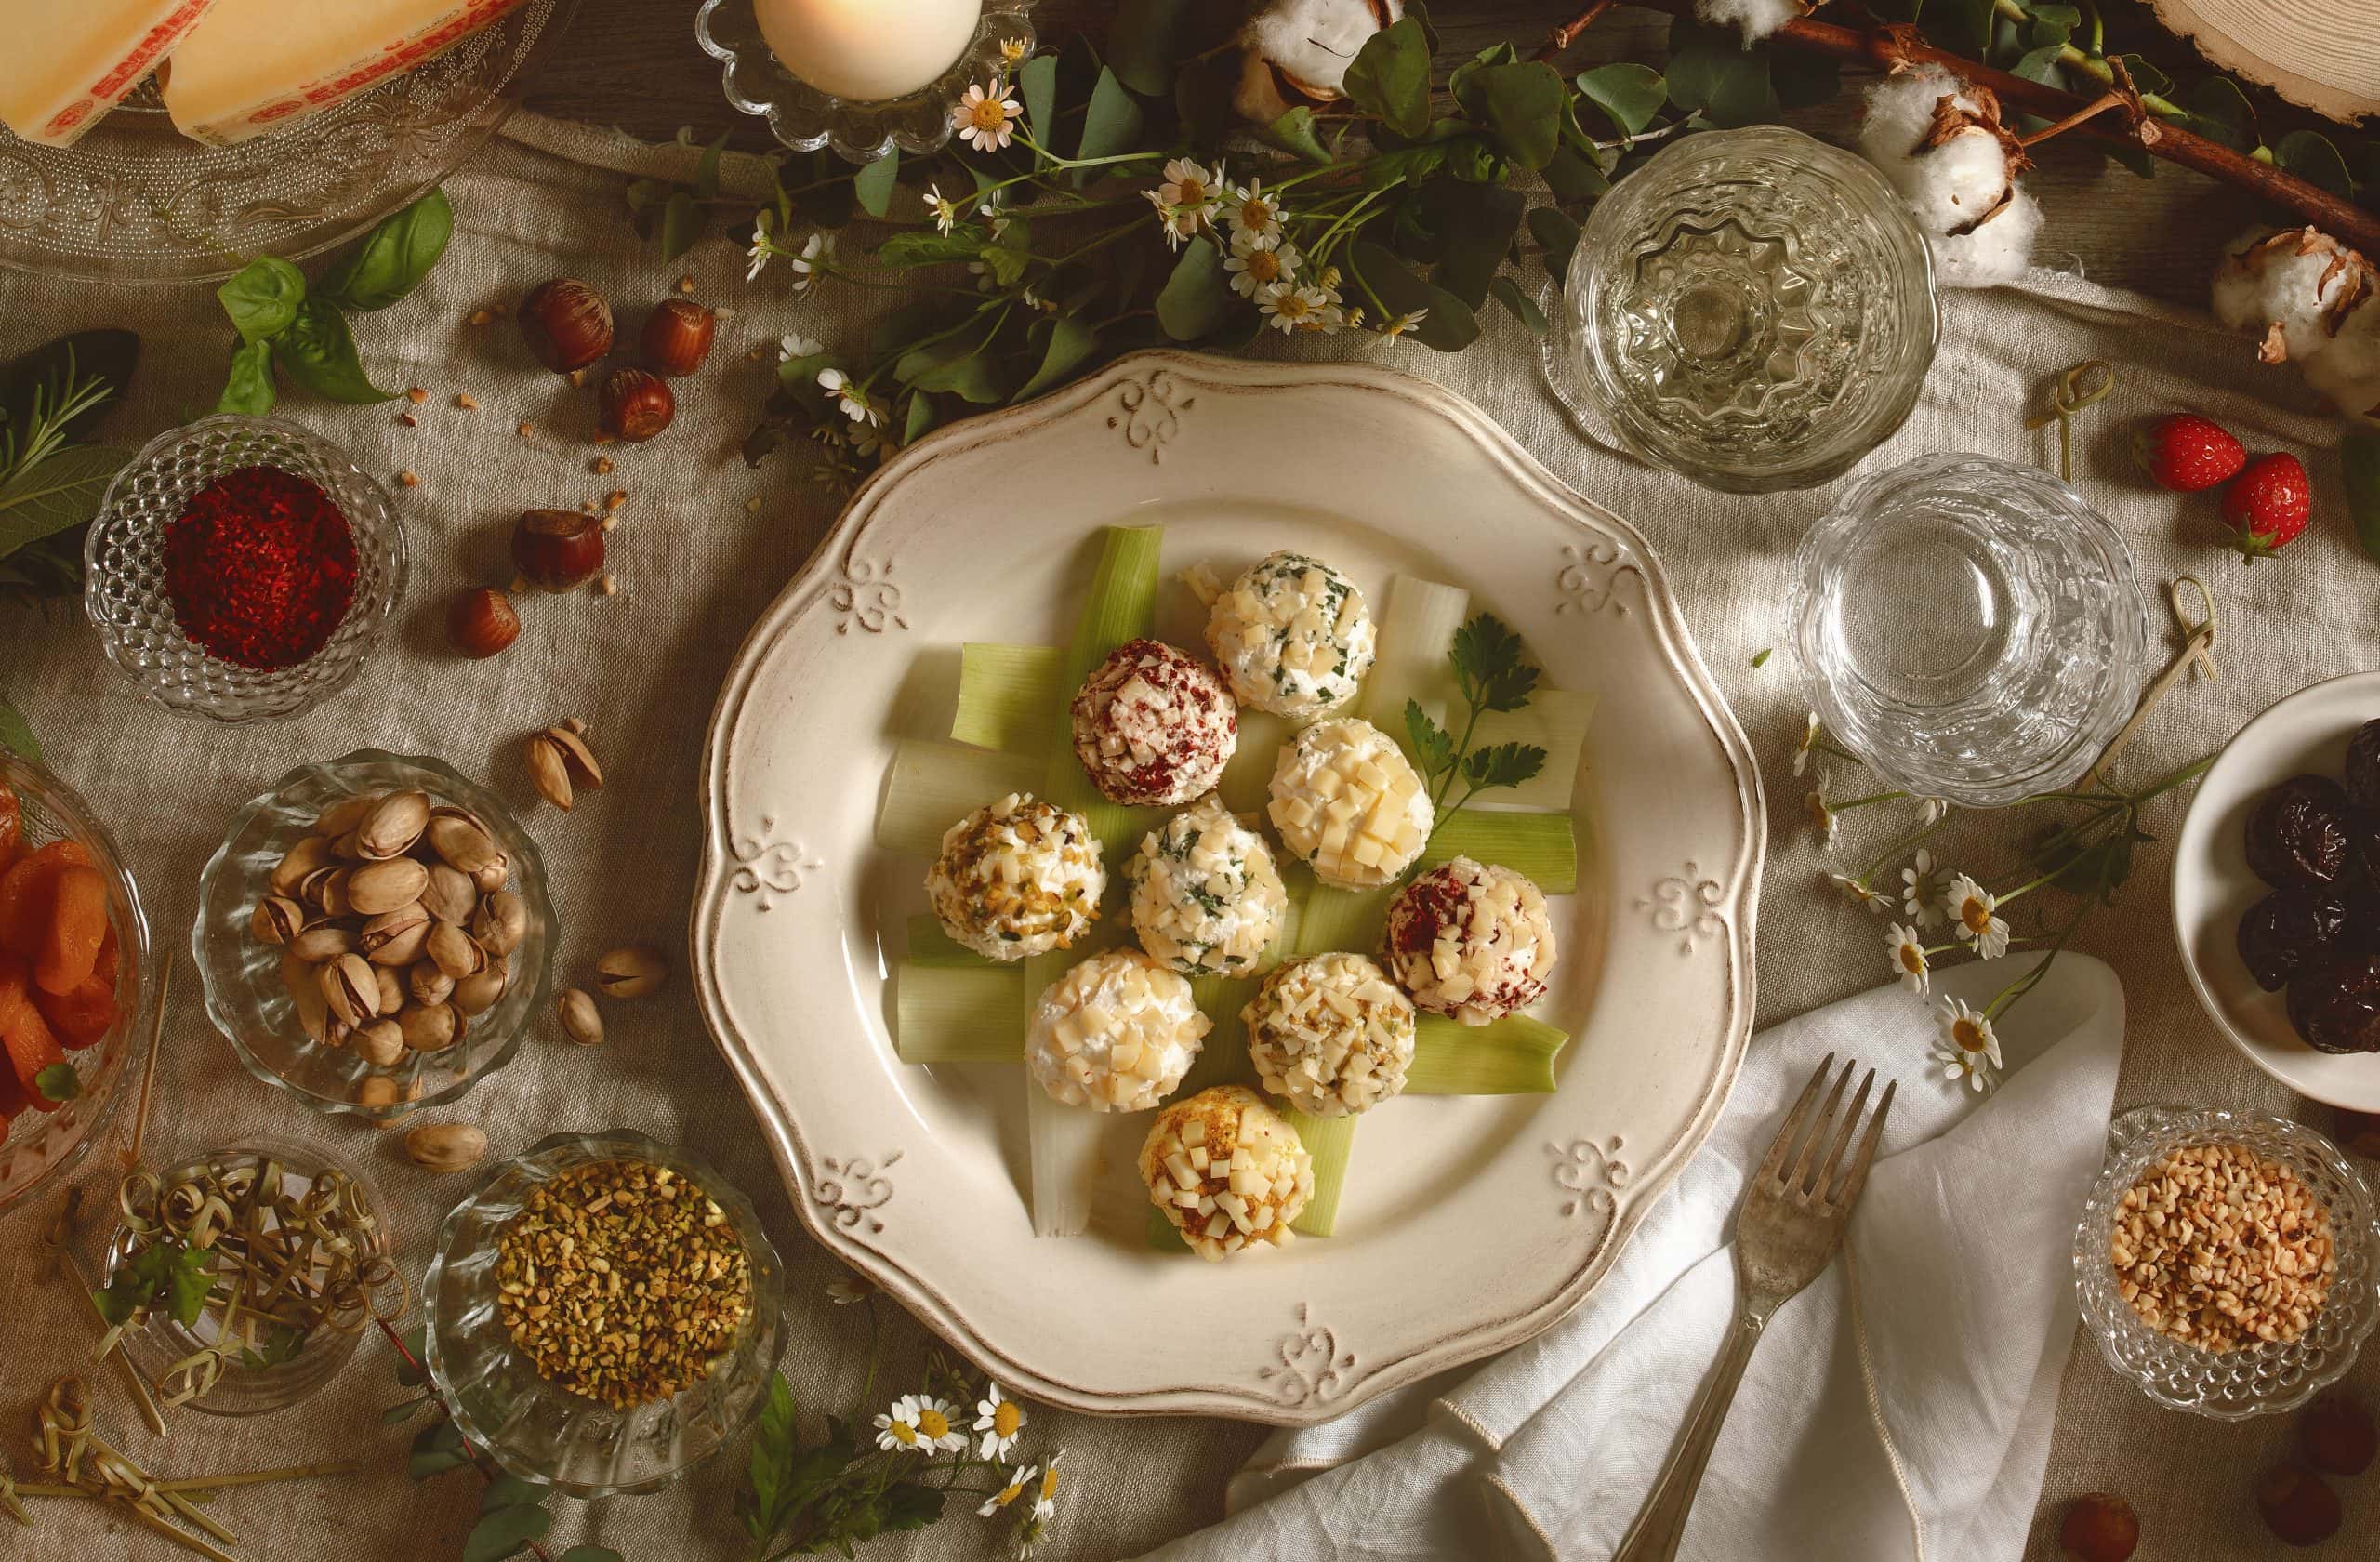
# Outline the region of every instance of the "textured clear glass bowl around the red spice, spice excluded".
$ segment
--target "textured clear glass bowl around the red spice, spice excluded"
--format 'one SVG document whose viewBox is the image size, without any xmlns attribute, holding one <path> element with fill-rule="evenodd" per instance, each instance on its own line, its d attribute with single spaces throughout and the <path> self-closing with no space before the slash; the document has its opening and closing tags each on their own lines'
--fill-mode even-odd
<svg viewBox="0 0 2380 1562">
<path fill-rule="evenodd" d="M 240 467 L 278 467 L 312 481 L 355 531 L 347 617 L 312 657 L 274 671 L 205 652 L 181 631 L 164 588 L 164 529 L 190 495 Z M 295 717 L 364 671 L 364 657 L 405 595 L 405 526 L 388 493 L 345 450 L 274 417 L 202 417 L 152 438 L 107 486 L 83 541 L 83 612 L 117 671 L 176 714 Z"/>
</svg>

